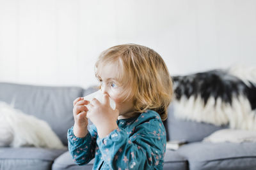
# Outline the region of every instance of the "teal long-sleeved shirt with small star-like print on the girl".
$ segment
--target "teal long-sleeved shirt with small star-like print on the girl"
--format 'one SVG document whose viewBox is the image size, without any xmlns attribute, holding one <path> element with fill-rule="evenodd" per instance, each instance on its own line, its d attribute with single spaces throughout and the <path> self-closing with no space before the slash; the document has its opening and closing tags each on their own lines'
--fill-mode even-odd
<svg viewBox="0 0 256 170">
<path fill-rule="evenodd" d="M 95 158 L 93 169 L 163 169 L 166 132 L 159 114 L 148 110 L 117 120 L 118 129 L 99 138 L 91 125 L 84 138 L 68 129 L 68 150 L 78 165 Z"/>
</svg>

